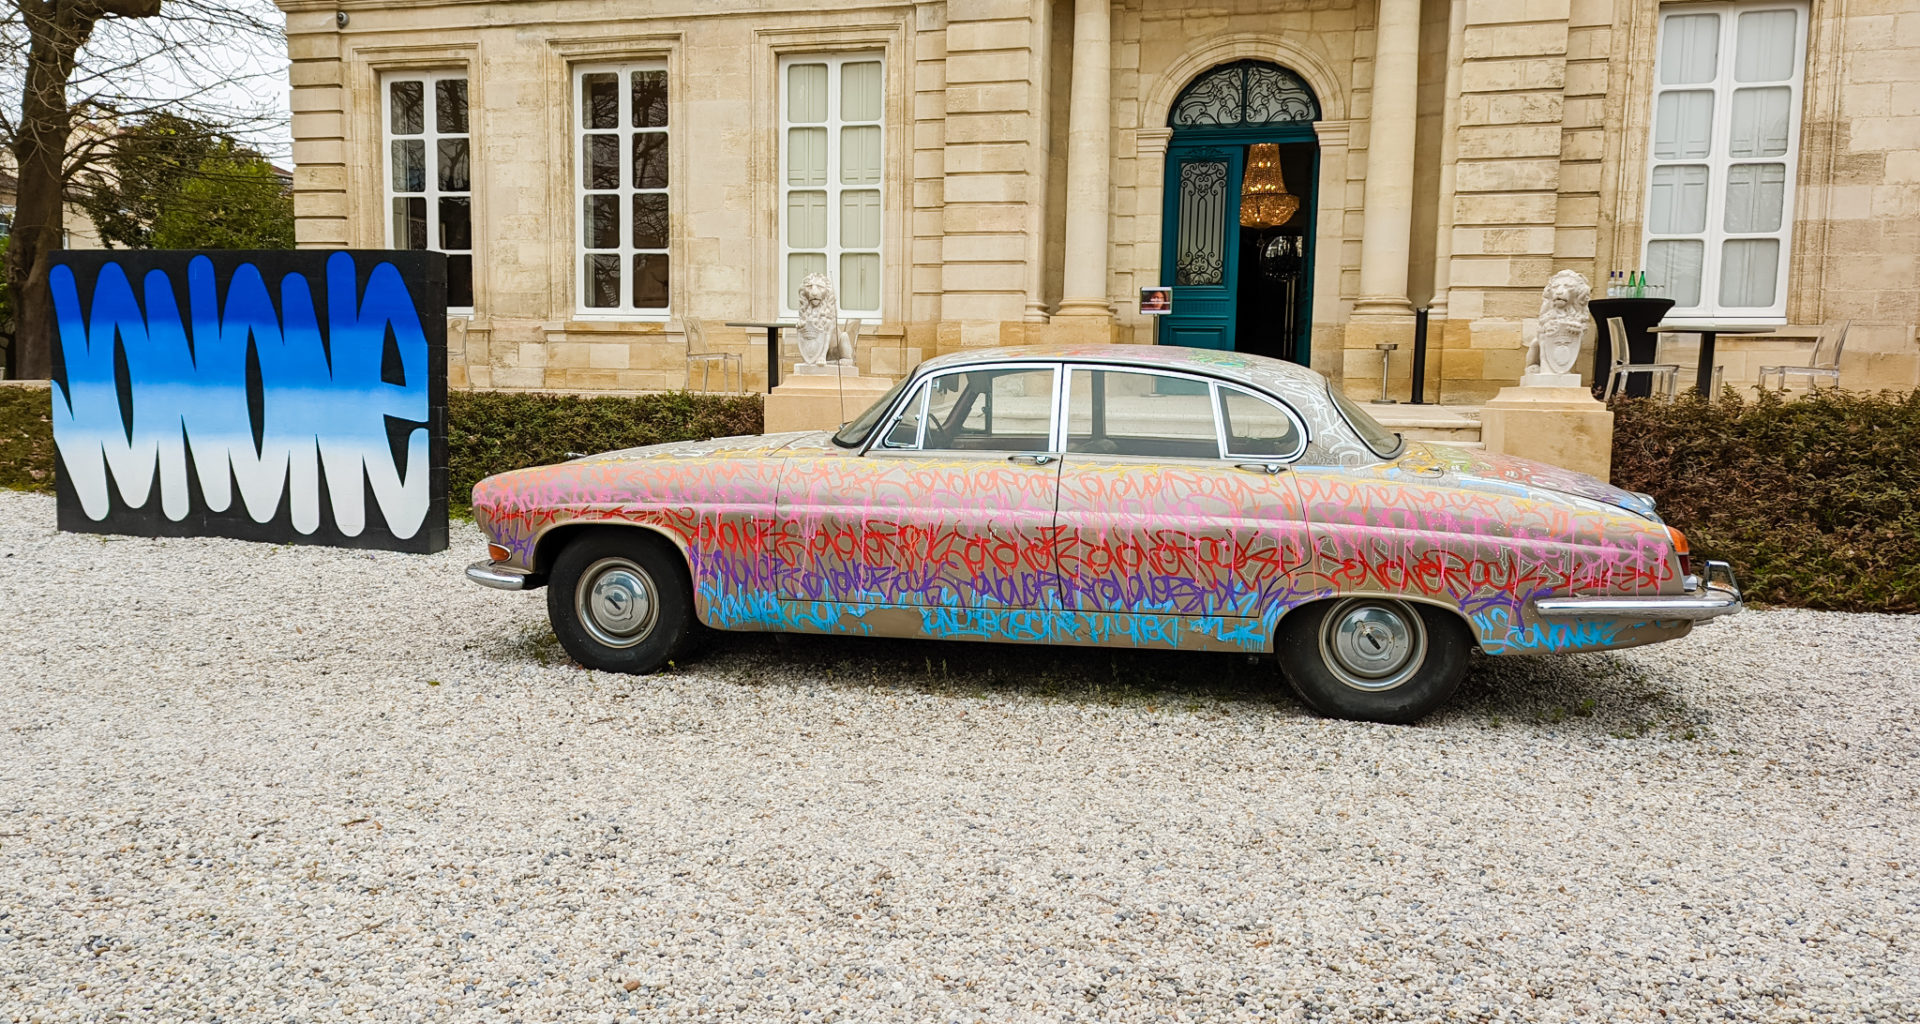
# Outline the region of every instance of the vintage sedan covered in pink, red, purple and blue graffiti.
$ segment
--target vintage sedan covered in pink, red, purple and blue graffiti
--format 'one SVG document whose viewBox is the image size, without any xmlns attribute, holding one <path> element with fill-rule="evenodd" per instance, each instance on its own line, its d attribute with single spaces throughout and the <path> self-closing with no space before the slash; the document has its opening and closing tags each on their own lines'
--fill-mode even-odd
<svg viewBox="0 0 1920 1024">
<path fill-rule="evenodd" d="M 1275 653 L 1407 722 L 1467 655 L 1599 651 L 1740 611 L 1653 501 L 1384 430 L 1292 363 L 1165 346 L 922 363 L 839 432 L 660 444 L 474 486 L 488 561 L 582 665 L 701 626 Z"/>
</svg>

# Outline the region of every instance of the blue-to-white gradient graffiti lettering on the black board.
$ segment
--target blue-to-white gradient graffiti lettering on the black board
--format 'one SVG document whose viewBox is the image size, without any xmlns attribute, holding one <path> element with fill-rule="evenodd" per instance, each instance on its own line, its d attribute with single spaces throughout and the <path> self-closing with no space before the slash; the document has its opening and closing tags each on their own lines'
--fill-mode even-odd
<svg viewBox="0 0 1920 1024">
<path fill-rule="evenodd" d="M 205 507 L 223 513 L 234 490 L 248 517 L 267 523 L 288 507 L 301 534 L 321 526 L 324 480 L 334 526 L 367 528 L 365 496 L 396 538 L 420 530 L 432 503 L 428 459 L 428 346 L 413 296 L 392 263 L 357 282 L 351 254 L 326 259 L 326 332 L 300 273 L 280 279 L 278 304 L 253 263 L 240 263 L 219 294 L 213 261 L 186 265 L 182 317 L 167 271 L 136 286 L 119 263 L 100 267 L 90 302 L 73 269 L 50 273 L 65 380 L 56 382 L 54 444 L 88 519 L 111 511 L 109 486 L 132 507 L 159 486 L 171 521 L 188 515 L 188 453 Z M 142 302 L 144 300 L 144 302 Z M 392 332 L 403 384 L 382 378 Z M 127 361 L 132 421 L 123 419 L 115 350 Z M 261 423 L 248 407 L 250 350 L 259 363 Z M 388 442 L 388 417 L 411 421 L 405 471 Z"/>
</svg>

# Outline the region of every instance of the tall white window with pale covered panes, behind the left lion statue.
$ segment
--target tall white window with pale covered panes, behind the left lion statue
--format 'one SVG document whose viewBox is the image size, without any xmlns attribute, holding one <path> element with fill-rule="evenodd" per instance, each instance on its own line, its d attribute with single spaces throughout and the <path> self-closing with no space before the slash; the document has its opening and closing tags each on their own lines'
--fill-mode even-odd
<svg viewBox="0 0 1920 1024">
<path fill-rule="evenodd" d="M 785 304 L 810 273 L 833 279 L 843 313 L 879 315 L 881 115 L 874 54 L 780 65 L 780 238 Z"/>
</svg>

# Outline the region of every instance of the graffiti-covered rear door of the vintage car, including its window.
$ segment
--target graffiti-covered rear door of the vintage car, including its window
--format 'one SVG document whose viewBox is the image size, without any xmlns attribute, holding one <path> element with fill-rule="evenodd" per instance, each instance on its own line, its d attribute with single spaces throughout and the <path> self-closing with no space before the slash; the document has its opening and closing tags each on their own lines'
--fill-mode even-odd
<svg viewBox="0 0 1920 1024">
<path fill-rule="evenodd" d="M 1142 644 L 1263 647 L 1311 551 L 1300 417 L 1233 384 L 1068 367 L 1064 434 L 1066 607 L 1133 617 Z"/>
</svg>

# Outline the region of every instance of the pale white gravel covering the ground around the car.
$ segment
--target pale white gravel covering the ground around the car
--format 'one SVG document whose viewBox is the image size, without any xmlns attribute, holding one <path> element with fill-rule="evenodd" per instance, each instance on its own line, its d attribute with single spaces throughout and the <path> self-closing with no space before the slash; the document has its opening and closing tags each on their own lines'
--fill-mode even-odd
<svg viewBox="0 0 1920 1024">
<path fill-rule="evenodd" d="M 1914 1020 L 1920 617 L 1309 717 L 1233 657 L 574 669 L 436 557 L 0 492 L 0 1018 Z"/>
</svg>

